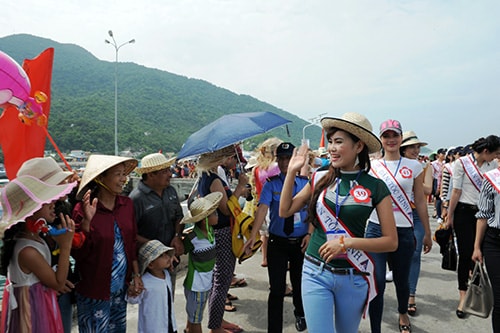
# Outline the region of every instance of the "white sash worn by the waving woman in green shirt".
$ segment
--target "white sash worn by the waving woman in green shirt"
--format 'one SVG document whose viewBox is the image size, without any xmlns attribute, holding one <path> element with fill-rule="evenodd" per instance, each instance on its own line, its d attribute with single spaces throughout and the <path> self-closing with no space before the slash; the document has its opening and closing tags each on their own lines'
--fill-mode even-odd
<svg viewBox="0 0 500 333">
<path fill-rule="evenodd" d="M 327 231 L 344 231 L 345 237 L 351 237 L 349 229 L 344 226 L 344 223 L 335 216 L 335 213 L 325 202 L 325 193 L 327 189 L 321 191 L 318 202 L 316 203 L 316 215 L 325 233 Z M 358 271 L 368 272 L 370 275 L 363 276 L 368 282 L 368 298 L 365 304 L 364 315 L 368 312 L 370 301 L 377 296 L 377 284 L 375 282 L 375 265 L 370 256 L 362 250 L 347 249 L 347 261 L 353 265 Z"/>
</svg>

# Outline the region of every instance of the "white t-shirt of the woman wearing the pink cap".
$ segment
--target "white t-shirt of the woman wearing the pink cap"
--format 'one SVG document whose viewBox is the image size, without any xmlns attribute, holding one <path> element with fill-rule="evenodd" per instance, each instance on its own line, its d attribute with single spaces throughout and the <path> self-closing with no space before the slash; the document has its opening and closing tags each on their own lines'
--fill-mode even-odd
<svg viewBox="0 0 500 333">
<path fill-rule="evenodd" d="M 411 200 L 414 197 L 413 183 L 415 181 L 415 178 L 417 178 L 423 171 L 422 164 L 420 164 L 420 162 L 418 162 L 417 160 L 411 160 L 406 157 L 401 157 L 401 160 L 395 161 L 385 161 L 384 159 L 380 159 L 378 161 L 384 164 L 393 176 L 395 175 L 395 178 L 400 187 L 406 193 L 408 199 Z M 372 163 L 374 164 L 376 162 L 373 161 Z M 373 170 L 370 170 L 370 174 L 374 177 L 377 177 Z M 391 187 L 388 187 L 390 190 Z M 394 212 L 394 219 L 396 220 L 396 227 L 409 228 L 412 226 L 410 221 L 408 221 L 403 212 L 401 212 L 401 210 L 399 209 L 398 205 L 394 203 L 394 201 L 392 201 L 392 210 Z M 373 210 L 372 214 L 370 215 L 369 221 L 380 224 L 376 210 Z"/>
</svg>

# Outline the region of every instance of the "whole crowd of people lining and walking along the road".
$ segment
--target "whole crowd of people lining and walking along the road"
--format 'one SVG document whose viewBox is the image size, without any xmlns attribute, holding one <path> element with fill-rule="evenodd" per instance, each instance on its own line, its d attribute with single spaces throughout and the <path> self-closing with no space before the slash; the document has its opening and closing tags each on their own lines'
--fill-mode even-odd
<svg viewBox="0 0 500 333">
<path fill-rule="evenodd" d="M 358 113 L 321 125 L 328 144 L 318 151 L 269 138 L 248 160 L 238 145 L 181 163 L 161 153 L 140 161 L 94 154 L 81 178 L 50 157 L 26 161 L 1 195 L 1 332 L 69 333 L 72 304 L 82 333 L 125 332 L 127 304 L 139 304 L 138 332 L 202 332 L 207 305 L 209 332 L 242 332 L 224 319 L 235 311 L 229 289 L 241 282 L 235 202 L 253 220 L 243 251 L 253 254 L 262 241 L 268 332 L 283 331 L 287 295 L 297 331 L 354 333 L 367 315 L 381 332 L 387 266 L 398 330 L 412 332 L 421 255 L 432 248 L 429 204 L 457 240 L 456 316 L 466 318 L 470 273 L 484 260 L 500 332 L 500 138 L 427 160 L 427 143 L 394 119 L 378 135 Z M 132 171 L 141 180 L 125 195 Z M 173 177 L 198 178 L 186 216 Z M 179 328 L 173 304 L 181 301 L 174 295 L 183 255 L 187 322 Z"/>
</svg>

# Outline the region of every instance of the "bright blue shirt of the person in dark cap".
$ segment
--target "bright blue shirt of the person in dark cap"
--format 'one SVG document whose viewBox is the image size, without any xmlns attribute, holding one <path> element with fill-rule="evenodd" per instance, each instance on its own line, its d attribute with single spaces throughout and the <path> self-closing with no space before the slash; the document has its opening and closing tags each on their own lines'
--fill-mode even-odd
<svg viewBox="0 0 500 333">
<path fill-rule="evenodd" d="M 279 206 L 284 181 L 285 175 L 283 173 L 271 177 L 262 188 L 259 205 L 265 204 L 269 206 L 269 217 L 271 219 L 269 233 L 284 238 L 302 237 L 307 234 L 308 230 L 308 224 L 306 223 L 307 206 L 304 206 L 302 210 L 294 214 L 293 232 L 290 235 L 283 232 L 285 219 L 279 216 Z M 296 176 L 292 196 L 300 192 L 308 182 L 309 180 L 306 177 Z"/>
</svg>

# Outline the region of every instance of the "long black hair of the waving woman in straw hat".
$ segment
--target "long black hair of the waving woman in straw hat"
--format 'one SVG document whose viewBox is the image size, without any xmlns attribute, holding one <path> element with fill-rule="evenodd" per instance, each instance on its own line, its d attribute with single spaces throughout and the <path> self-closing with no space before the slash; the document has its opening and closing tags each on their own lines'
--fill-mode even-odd
<svg viewBox="0 0 500 333">
<path fill-rule="evenodd" d="M 327 139 L 330 139 L 333 134 L 335 134 L 337 131 L 344 131 L 340 128 L 337 127 L 330 127 L 326 129 L 326 137 Z M 360 141 L 360 139 L 347 132 L 344 131 L 351 137 L 351 139 L 357 143 Z M 358 160 L 359 160 L 359 167 L 361 170 L 368 172 L 370 171 L 371 164 L 370 164 L 370 155 L 368 153 L 368 146 L 364 144 L 363 150 L 358 154 Z M 332 185 L 335 180 L 340 177 L 340 169 L 339 168 L 334 168 L 331 164 L 328 167 L 328 172 L 327 174 L 321 178 L 317 184 L 314 185 L 314 192 L 311 196 L 311 201 L 309 202 L 308 208 L 307 208 L 307 222 L 312 223 L 316 228 L 319 227 L 318 220 L 316 218 L 316 203 L 318 202 L 319 195 L 321 192 L 327 188 L 328 186 Z"/>
</svg>

